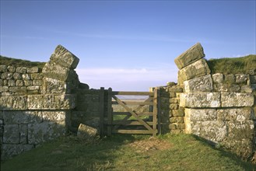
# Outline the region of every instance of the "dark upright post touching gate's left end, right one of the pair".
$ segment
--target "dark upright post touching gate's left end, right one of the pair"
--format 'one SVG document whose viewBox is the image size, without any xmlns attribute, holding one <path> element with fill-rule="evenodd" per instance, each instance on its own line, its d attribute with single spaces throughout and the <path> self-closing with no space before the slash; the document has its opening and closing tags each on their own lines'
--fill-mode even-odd
<svg viewBox="0 0 256 171">
<path fill-rule="evenodd" d="M 112 133 L 112 89 L 107 91 L 107 136 L 111 136 Z"/>
</svg>

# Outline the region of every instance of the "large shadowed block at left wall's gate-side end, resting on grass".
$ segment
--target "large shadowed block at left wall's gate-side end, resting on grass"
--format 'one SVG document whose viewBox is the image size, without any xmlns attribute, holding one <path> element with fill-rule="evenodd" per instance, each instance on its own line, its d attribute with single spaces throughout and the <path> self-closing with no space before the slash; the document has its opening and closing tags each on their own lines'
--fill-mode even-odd
<svg viewBox="0 0 256 171">
<path fill-rule="evenodd" d="M 66 134 L 65 121 L 28 124 L 28 143 L 40 144 Z"/>
</svg>

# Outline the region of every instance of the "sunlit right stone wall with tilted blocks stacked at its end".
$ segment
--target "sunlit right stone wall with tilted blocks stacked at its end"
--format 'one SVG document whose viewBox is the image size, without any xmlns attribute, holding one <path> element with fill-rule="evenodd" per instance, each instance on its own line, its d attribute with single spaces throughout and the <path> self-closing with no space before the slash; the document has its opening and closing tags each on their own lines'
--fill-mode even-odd
<svg viewBox="0 0 256 171">
<path fill-rule="evenodd" d="M 179 105 L 185 132 L 247 158 L 255 149 L 256 67 L 247 73 L 211 74 L 204 56 L 201 44 L 195 44 L 175 59 L 178 86 L 184 89 Z"/>
</svg>

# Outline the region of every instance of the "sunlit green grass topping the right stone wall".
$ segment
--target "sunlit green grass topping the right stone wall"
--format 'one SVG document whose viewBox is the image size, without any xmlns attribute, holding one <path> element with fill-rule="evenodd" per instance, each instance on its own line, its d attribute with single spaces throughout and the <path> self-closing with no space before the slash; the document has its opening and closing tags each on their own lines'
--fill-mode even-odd
<svg viewBox="0 0 256 171">
<path fill-rule="evenodd" d="M 212 74 L 242 74 L 256 69 L 256 55 L 250 54 L 240 58 L 219 58 L 207 61 Z"/>
</svg>

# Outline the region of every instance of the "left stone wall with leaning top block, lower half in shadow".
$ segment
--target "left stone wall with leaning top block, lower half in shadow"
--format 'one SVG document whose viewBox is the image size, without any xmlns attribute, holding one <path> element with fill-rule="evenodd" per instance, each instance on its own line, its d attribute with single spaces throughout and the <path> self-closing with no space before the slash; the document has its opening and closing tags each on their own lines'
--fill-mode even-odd
<svg viewBox="0 0 256 171">
<path fill-rule="evenodd" d="M 78 62 L 59 45 L 42 70 L 0 65 L 1 159 L 67 134 L 80 85 Z"/>
</svg>

